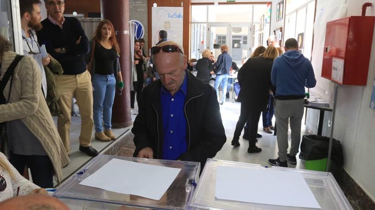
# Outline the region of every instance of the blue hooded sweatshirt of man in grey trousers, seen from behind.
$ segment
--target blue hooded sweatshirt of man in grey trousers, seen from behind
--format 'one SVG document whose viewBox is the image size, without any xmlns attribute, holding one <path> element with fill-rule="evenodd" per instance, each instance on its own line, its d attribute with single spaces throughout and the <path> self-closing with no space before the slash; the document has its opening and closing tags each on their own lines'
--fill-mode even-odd
<svg viewBox="0 0 375 210">
<path fill-rule="evenodd" d="M 275 59 L 271 72 L 276 98 L 281 96 L 305 97 L 305 87 L 314 88 L 314 70 L 309 59 L 297 50 L 287 51 Z M 293 98 L 291 98 L 293 99 Z"/>
</svg>

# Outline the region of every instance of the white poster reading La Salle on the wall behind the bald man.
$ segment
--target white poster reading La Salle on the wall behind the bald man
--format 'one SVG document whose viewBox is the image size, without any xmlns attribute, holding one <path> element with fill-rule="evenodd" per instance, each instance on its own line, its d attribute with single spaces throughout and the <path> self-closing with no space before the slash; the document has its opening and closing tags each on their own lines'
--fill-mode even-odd
<svg viewBox="0 0 375 210">
<path fill-rule="evenodd" d="M 168 40 L 182 46 L 183 7 L 152 8 L 152 44 L 159 42 L 159 31 L 165 30 Z"/>
</svg>

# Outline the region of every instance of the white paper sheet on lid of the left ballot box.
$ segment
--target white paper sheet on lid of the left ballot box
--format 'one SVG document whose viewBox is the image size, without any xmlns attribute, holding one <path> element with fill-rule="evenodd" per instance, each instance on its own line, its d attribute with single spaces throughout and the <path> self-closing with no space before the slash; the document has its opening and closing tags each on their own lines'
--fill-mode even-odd
<svg viewBox="0 0 375 210">
<path fill-rule="evenodd" d="M 180 171 L 114 158 L 80 184 L 160 200 Z"/>
</svg>

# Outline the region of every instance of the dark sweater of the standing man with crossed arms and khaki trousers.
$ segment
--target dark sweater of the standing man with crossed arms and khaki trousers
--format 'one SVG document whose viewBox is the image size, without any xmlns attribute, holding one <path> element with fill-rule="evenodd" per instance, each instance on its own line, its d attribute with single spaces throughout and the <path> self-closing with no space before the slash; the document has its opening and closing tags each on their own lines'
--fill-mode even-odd
<svg viewBox="0 0 375 210">
<path fill-rule="evenodd" d="M 86 71 L 84 55 L 89 52 L 89 40 L 80 21 L 74 17 L 64 17 L 63 29 L 46 18 L 43 28 L 37 32 L 39 44 L 45 44 L 46 50 L 64 69 L 64 74 L 77 75 Z M 80 44 L 76 44 L 81 36 Z M 55 48 L 65 47 L 66 53 L 56 53 Z"/>
</svg>

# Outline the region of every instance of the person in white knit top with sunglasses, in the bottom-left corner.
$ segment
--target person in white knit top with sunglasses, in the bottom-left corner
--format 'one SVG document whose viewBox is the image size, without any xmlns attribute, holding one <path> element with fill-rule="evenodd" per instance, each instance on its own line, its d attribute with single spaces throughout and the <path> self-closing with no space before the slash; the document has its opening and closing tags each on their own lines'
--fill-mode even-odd
<svg viewBox="0 0 375 210">
<path fill-rule="evenodd" d="M 32 193 L 47 194 L 47 191 L 21 176 L 7 157 L 0 152 L 0 201 Z"/>
</svg>

